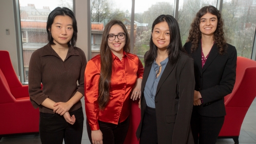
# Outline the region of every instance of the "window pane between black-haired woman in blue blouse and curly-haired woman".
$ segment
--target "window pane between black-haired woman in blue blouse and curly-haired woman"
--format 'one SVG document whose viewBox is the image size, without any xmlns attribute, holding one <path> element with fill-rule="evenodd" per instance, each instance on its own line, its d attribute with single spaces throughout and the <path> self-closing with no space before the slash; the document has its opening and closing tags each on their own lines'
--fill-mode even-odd
<svg viewBox="0 0 256 144">
<path fill-rule="evenodd" d="M 216 7 L 217 0 L 183 0 L 179 2 L 178 23 L 183 45 L 188 38 L 190 24 L 192 23 L 195 14 L 202 7 L 209 5 Z"/>
</svg>

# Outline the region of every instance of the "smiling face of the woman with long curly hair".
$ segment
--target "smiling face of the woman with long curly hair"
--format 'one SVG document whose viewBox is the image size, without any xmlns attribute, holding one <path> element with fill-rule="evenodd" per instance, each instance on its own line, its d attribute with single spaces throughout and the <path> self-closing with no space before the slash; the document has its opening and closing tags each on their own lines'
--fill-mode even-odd
<svg viewBox="0 0 256 144">
<path fill-rule="evenodd" d="M 218 25 L 218 18 L 216 15 L 206 13 L 200 18 L 200 31 L 202 35 L 213 36 L 214 31 Z"/>
</svg>

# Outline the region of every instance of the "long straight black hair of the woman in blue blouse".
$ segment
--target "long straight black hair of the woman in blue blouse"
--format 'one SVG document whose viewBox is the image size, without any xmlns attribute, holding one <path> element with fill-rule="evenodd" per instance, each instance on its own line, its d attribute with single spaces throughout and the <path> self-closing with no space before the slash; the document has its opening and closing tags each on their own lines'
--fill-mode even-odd
<svg viewBox="0 0 256 144">
<path fill-rule="evenodd" d="M 169 26 L 170 44 L 167 46 L 167 52 L 168 52 L 170 64 L 175 64 L 179 59 L 180 51 L 185 52 L 185 50 L 182 47 L 179 24 L 173 16 L 163 14 L 163 15 L 158 16 L 154 20 L 154 22 L 152 24 L 151 33 L 153 32 L 154 26 L 161 22 L 166 22 Z M 157 47 L 153 43 L 152 34 L 151 34 L 150 42 L 149 42 L 149 51 L 146 54 L 146 57 L 144 60 L 145 65 L 146 66 L 151 65 L 153 63 L 153 61 L 155 60 L 156 56 L 157 56 Z"/>
</svg>

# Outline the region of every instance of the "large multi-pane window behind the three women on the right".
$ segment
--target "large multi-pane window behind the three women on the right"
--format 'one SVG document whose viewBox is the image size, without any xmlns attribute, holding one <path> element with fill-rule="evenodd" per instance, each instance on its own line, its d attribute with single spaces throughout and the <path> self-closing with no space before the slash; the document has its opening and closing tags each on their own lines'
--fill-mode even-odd
<svg viewBox="0 0 256 144">
<path fill-rule="evenodd" d="M 161 14 L 173 15 L 179 23 L 183 45 L 190 24 L 202 7 L 212 5 L 223 15 L 227 43 L 235 46 L 238 56 L 251 58 L 256 27 L 255 0 L 91 0 L 91 57 L 99 54 L 102 33 L 111 19 L 120 19 L 131 38 L 131 53 L 143 61 L 149 49 L 153 20 Z M 177 8 L 178 10 L 175 10 Z M 174 14 L 174 13 L 178 14 Z"/>
</svg>

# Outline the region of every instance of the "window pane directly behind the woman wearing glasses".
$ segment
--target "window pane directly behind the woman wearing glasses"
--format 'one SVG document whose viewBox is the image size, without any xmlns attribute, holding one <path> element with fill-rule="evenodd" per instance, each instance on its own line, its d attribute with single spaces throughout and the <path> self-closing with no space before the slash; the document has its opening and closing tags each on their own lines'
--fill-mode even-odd
<svg viewBox="0 0 256 144">
<path fill-rule="evenodd" d="M 102 33 L 111 19 L 121 20 L 130 34 L 131 1 L 91 0 L 91 58 L 100 53 Z"/>
</svg>

